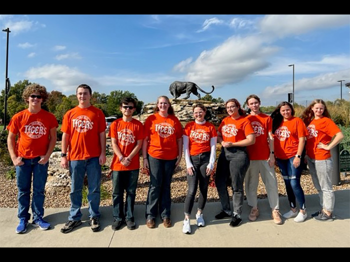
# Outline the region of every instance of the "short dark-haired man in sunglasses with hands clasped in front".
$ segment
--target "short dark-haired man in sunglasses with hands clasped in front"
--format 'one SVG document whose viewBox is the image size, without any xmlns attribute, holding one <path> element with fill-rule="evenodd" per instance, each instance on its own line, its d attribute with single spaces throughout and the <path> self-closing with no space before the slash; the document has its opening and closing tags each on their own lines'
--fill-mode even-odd
<svg viewBox="0 0 350 262">
<path fill-rule="evenodd" d="M 119 230 L 126 223 L 128 230 L 135 229 L 133 207 L 139 173 L 139 151 L 143 141 L 143 125 L 132 118 L 136 100 L 125 97 L 120 102 L 122 118 L 111 123 L 108 136 L 111 138 L 114 157 L 110 166 L 113 184 L 112 230 Z M 124 208 L 124 191 L 126 202 Z M 125 213 L 124 213 L 125 211 Z"/>
</svg>

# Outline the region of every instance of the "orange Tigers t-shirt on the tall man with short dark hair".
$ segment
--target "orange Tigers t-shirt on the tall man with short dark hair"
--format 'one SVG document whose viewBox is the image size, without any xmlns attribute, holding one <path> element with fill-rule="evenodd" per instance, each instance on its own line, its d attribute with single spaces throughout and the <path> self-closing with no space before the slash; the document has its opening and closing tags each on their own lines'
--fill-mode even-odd
<svg viewBox="0 0 350 262">
<path fill-rule="evenodd" d="M 65 113 L 61 131 L 69 135 L 68 159 L 86 160 L 101 155 L 99 134 L 106 129 L 103 112 L 94 107 L 70 109 Z"/>
</svg>

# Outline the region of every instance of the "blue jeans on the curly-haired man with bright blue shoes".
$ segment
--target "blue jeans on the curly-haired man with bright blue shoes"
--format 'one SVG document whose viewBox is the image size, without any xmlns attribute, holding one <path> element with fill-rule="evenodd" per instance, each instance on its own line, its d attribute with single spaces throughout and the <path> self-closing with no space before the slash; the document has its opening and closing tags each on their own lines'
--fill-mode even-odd
<svg viewBox="0 0 350 262">
<path fill-rule="evenodd" d="M 44 215 L 45 184 L 47 180 L 48 162 L 45 165 L 38 164 L 40 157 L 34 159 L 22 159 L 24 165 L 16 167 L 17 188 L 18 188 L 18 218 L 30 219 L 30 189 L 31 176 L 33 177 L 33 199 L 31 211 L 33 221 L 42 218 Z"/>
</svg>

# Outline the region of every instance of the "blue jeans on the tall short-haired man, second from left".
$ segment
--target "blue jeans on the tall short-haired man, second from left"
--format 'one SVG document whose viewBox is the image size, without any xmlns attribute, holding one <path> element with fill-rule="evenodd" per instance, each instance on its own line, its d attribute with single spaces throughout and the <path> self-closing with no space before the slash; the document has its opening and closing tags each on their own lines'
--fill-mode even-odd
<svg viewBox="0 0 350 262">
<path fill-rule="evenodd" d="M 89 158 L 86 160 L 76 160 L 69 162 L 69 172 L 71 175 L 71 190 L 70 190 L 70 211 L 68 220 L 81 220 L 80 212 L 82 202 L 82 187 L 85 174 L 87 175 L 88 183 L 88 211 L 90 218 L 99 218 L 99 201 L 101 187 L 101 166 L 99 165 L 98 157 Z"/>
</svg>

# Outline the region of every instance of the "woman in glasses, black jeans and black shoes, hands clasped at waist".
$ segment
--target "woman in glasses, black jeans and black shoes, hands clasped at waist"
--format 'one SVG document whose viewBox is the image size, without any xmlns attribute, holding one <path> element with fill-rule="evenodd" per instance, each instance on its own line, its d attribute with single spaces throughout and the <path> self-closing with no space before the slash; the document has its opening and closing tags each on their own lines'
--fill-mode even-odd
<svg viewBox="0 0 350 262">
<path fill-rule="evenodd" d="M 255 143 L 255 134 L 237 99 L 229 99 L 226 102 L 226 110 L 229 116 L 222 120 L 217 129 L 217 142 L 222 148 L 217 160 L 215 185 L 222 210 L 215 218 L 231 218 L 229 226 L 234 228 L 242 223 L 243 181 L 249 167 L 246 147 Z M 229 176 L 233 189 L 233 213 L 226 185 Z"/>
</svg>

